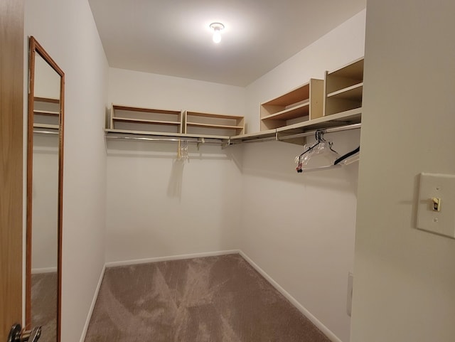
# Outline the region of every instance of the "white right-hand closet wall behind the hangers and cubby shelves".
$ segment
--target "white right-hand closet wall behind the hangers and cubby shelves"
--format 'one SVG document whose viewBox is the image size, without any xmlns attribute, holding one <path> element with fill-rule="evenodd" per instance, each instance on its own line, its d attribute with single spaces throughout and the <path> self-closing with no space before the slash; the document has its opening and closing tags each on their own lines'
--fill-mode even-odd
<svg viewBox="0 0 455 342">
<path fill-rule="evenodd" d="M 259 129 L 260 102 L 361 57 L 364 33 L 362 11 L 249 85 L 250 128 Z M 340 154 L 359 144 L 359 132 L 327 138 Z M 301 151 L 301 146 L 282 142 L 244 146 L 240 248 L 326 333 L 349 341 L 346 294 L 353 270 L 358 166 L 298 174 L 294 157 Z"/>
</svg>

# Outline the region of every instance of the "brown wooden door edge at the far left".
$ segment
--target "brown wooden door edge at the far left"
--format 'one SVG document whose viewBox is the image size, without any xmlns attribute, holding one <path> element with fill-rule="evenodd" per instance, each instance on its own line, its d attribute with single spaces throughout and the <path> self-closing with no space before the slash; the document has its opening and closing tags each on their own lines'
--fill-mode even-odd
<svg viewBox="0 0 455 342">
<path fill-rule="evenodd" d="M 22 323 L 24 0 L 0 0 L 0 342 Z"/>
</svg>

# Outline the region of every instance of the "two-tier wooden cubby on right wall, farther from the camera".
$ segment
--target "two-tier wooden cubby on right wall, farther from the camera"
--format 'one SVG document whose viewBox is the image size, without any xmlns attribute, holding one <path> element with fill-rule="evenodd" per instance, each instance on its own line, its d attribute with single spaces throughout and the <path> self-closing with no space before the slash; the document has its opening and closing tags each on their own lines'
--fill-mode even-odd
<svg viewBox="0 0 455 342">
<path fill-rule="evenodd" d="M 308 83 L 260 105 L 261 131 L 323 116 L 323 80 Z"/>
</svg>

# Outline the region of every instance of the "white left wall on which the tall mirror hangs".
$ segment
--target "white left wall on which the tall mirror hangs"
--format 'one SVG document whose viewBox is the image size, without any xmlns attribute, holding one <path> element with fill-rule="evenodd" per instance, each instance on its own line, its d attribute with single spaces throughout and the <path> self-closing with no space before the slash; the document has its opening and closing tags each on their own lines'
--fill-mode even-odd
<svg viewBox="0 0 455 342">
<path fill-rule="evenodd" d="M 65 72 L 62 341 L 74 342 L 105 263 L 107 60 L 88 1 L 26 1 L 25 16 L 26 39 Z"/>
</svg>

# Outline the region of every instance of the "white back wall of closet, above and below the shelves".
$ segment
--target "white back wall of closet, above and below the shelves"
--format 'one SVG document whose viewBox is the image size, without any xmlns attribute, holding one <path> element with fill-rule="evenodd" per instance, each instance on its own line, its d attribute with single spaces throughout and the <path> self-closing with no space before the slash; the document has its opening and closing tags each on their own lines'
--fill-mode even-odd
<svg viewBox="0 0 455 342">
<path fill-rule="evenodd" d="M 242 115 L 245 88 L 109 69 L 109 102 Z M 237 248 L 240 149 L 108 140 L 107 262 Z"/>
</svg>

